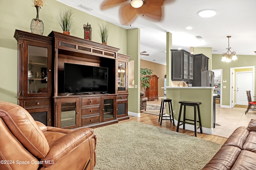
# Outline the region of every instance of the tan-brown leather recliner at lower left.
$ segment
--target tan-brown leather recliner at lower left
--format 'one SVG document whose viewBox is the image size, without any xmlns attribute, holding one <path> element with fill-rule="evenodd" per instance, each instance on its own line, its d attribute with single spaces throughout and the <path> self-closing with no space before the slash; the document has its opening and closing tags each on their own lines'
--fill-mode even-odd
<svg viewBox="0 0 256 170">
<path fill-rule="evenodd" d="M 91 128 L 48 127 L 16 104 L 0 101 L 0 170 L 93 170 Z"/>
</svg>

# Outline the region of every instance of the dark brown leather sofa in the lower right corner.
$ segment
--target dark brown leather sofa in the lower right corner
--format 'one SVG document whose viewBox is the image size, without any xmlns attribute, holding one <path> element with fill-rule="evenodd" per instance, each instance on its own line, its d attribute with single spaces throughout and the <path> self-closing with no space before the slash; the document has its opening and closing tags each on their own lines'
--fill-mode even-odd
<svg viewBox="0 0 256 170">
<path fill-rule="evenodd" d="M 203 170 L 256 170 L 256 119 L 238 127 Z"/>
</svg>

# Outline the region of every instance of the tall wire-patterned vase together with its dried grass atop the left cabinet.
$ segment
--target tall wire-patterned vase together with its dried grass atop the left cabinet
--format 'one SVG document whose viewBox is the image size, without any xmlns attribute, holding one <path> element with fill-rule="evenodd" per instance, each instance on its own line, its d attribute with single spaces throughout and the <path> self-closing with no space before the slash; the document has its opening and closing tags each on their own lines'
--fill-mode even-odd
<svg viewBox="0 0 256 170">
<path fill-rule="evenodd" d="M 36 8 L 36 18 L 32 19 L 30 23 L 30 30 L 32 33 L 43 35 L 44 33 L 44 23 L 39 19 L 39 11 L 41 7 L 44 6 L 44 0 L 32 0 L 33 6 Z"/>
</svg>

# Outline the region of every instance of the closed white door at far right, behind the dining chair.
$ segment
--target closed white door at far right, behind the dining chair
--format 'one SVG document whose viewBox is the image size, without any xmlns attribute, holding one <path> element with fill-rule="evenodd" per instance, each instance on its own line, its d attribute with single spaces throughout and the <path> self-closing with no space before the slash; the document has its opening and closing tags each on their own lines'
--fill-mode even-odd
<svg viewBox="0 0 256 170">
<path fill-rule="evenodd" d="M 236 73 L 236 104 L 247 105 L 246 90 L 253 92 L 252 72 Z"/>
</svg>

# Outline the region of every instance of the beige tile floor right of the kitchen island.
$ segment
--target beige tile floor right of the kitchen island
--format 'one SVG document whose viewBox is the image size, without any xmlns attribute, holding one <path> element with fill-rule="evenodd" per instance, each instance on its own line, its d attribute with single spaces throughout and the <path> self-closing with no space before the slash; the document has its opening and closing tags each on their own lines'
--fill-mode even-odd
<svg viewBox="0 0 256 170">
<path fill-rule="evenodd" d="M 256 111 L 248 111 L 244 114 L 245 108 L 234 107 L 232 109 L 221 108 L 220 104 L 216 104 L 216 123 L 213 135 L 221 137 L 229 137 L 233 131 L 240 126 L 248 126 L 251 119 L 256 119 Z"/>
</svg>

